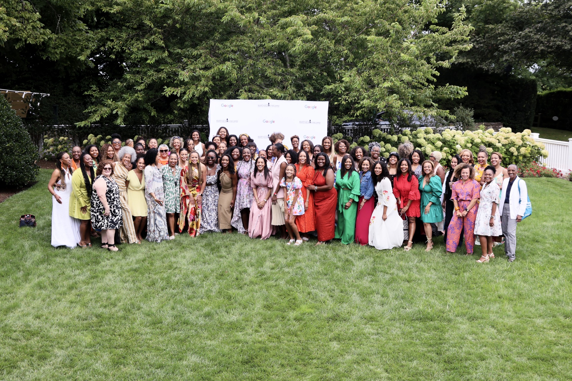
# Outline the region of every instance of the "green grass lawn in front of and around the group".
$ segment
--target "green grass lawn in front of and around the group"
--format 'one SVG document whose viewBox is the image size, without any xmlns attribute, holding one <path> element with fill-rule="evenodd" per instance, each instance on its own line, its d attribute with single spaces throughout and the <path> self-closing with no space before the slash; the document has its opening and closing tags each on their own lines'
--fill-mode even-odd
<svg viewBox="0 0 572 381">
<path fill-rule="evenodd" d="M 56 250 L 49 173 L 0 204 L 1 380 L 572 379 L 570 182 L 527 180 L 517 260 L 477 264 L 442 238 Z"/>
</svg>

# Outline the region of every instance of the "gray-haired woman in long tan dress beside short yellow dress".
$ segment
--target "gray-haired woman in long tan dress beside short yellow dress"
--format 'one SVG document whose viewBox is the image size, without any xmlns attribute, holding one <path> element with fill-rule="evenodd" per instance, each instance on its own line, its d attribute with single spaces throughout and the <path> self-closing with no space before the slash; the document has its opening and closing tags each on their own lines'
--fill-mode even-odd
<svg viewBox="0 0 572 381">
<path fill-rule="evenodd" d="M 113 163 L 112 179 L 114 179 L 119 188 L 119 201 L 121 203 L 123 224 L 121 229 L 116 230 L 116 242 L 121 240 L 121 242 L 141 243 L 137 239 L 137 232 L 133 225 L 133 216 L 129 209 L 129 203 L 127 202 L 127 183 L 125 182 L 129 176 L 129 171 L 134 166 L 137 155 L 135 150 L 131 147 L 123 146 L 117 153 L 117 156 L 119 157 L 119 161 Z"/>
</svg>

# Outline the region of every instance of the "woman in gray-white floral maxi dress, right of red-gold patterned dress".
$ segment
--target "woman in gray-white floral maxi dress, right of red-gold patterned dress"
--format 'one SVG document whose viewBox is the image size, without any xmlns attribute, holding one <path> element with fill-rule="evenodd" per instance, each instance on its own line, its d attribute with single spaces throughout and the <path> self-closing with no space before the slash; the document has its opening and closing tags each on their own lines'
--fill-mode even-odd
<svg viewBox="0 0 572 381">
<path fill-rule="evenodd" d="M 217 188 L 217 173 L 220 165 L 217 164 L 215 150 L 210 150 L 205 157 L 206 186 L 202 193 L 201 227 L 200 233 L 206 231 L 220 232 L 219 229 L 219 189 Z"/>
</svg>

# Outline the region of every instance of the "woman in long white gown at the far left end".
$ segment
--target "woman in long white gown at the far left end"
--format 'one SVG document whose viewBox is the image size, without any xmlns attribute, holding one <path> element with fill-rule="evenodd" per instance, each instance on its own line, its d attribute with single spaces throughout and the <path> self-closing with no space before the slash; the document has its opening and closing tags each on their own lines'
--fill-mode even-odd
<svg viewBox="0 0 572 381">
<path fill-rule="evenodd" d="M 51 174 L 47 189 L 51 198 L 51 246 L 76 247 L 80 242 L 80 220 L 69 214 L 72 194 L 72 169 L 70 155 L 61 152 L 55 157 L 56 169 Z"/>
</svg>

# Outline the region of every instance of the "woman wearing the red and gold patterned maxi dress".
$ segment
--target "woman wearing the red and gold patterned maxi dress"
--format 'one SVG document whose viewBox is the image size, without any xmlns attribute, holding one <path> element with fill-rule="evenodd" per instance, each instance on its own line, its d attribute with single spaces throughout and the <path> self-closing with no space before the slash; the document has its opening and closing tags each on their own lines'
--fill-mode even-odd
<svg viewBox="0 0 572 381">
<path fill-rule="evenodd" d="M 206 167 L 200 162 L 197 151 L 190 151 L 189 165 L 181 170 L 181 212 L 179 214 L 179 231 L 188 226 L 189 235 L 200 234 L 202 192 L 205 190 Z"/>
</svg>

